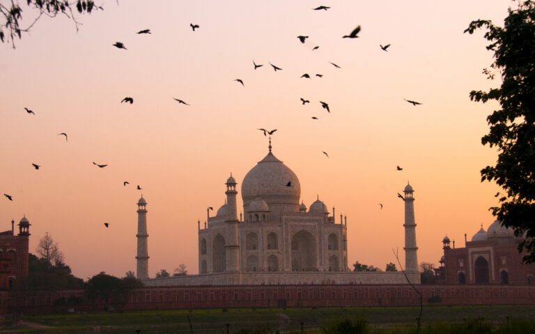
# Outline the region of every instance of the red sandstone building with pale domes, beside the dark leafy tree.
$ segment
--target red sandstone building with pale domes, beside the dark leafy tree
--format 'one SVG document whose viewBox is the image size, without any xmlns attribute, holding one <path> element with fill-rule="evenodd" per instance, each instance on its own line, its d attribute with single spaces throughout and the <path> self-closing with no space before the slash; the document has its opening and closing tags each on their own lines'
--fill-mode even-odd
<svg viewBox="0 0 535 334">
<path fill-rule="evenodd" d="M 465 235 L 466 239 L 466 235 Z M 437 283 L 442 284 L 534 284 L 535 264 L 522 264 L 513 230 L 502 227 L 498 220 L 465 241 L 464 248 L 450 247 L 446 236 L 444 256 L 437 270 Z"/>
</svg>

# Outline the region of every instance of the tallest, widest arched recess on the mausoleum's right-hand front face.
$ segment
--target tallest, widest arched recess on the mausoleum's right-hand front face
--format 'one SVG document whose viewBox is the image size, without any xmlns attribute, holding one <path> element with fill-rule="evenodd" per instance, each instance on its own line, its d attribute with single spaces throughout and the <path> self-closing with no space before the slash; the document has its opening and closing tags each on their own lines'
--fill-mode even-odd
<svg viewBox="0 0 535 334">
<path fill-rule="evenodd" d="M 309 231 L 299 231 L 292 238 L 292 270 L 316 271 L 316 239 Z"/>
</svg>

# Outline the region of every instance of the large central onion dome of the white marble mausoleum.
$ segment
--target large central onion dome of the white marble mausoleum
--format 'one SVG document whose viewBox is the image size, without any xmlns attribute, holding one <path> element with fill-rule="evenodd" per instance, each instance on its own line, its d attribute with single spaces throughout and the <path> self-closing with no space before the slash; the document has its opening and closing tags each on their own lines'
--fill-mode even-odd
<svg viewBox="0 0 535 334">
<path fill-rule="evenodd" d="M 270 152 L 253 167 L 242 182 L 242 199 L 248 206 L 261 197 L 267 204 L 299 206 L 301 185 L 295 173 Z"/>
</svg>

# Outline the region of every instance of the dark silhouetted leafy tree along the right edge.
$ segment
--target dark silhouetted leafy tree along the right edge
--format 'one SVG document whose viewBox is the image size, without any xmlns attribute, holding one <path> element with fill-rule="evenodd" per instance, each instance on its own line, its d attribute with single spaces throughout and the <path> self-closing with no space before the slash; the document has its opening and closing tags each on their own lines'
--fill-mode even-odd
<svg viewBox="0 0 535 334">
<path fill-rule="evenodd" d="M 509 8 L 503 27 L 476 20 L 465 32 L 481 27 L 490 42 L 487 50 L 494 52 L 490 70 L 483 73 L 488 79 L 499 74 L 502 81 L 499 88 L 470 92 L 474 101 L 497 100 L 501 107 L 487 117 L 490 132 L 481 138 L 483 145 L 499 152 L 496 165 L 481 170 L 481 181 L 495 181 L 504 189 L 500 205 L 491 210 L 516 236 L 525 236 L 518 250 L 526 250 L 522 259 L 531 263 L 535 261 L 535 4 L 519 1 L 518 8 Z"/>
</svg>

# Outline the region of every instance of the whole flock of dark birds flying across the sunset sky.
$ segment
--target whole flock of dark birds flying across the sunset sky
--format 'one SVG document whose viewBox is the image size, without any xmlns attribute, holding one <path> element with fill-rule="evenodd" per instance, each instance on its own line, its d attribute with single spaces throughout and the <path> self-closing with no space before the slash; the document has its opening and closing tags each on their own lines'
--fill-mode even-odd
<svg viewBox="0 0 535 334">
<path fill-rule="evenodd" d="M 329 6 L 318 6 L 316 8 L 312 8 L 313 10 L 329 10 Z M 190 23 L 189 26 L 192 28 L 192 31 L 195 31 L 195 29 L 199 29 L 199 24 L 193 24 L 193 23 Z M 361 31 L 361 26 L 357 26 L 355 29 L 353 29 L 348 35 L 344 35 L 342 36 L 342 38 L 351 38 L 351 39 L 354 39 L 354 38 L 359 38 L 358 34 L 359 32 Z M 137 32 L 137 34 L 150 34 L 150 29 L 143 29 L 143 30 L 140 30 Z M 300 40 L 300 43 L 306 43 L 307 42 L 307 38 L 309 38 L 309 36 L 304 36 L 304 35 L 300 35 L 300 36 L 297 36 L 297 38 Z M 118 49 L 122 49 L 122 50 L 127 50 L 127 47 L 125 47 L 125 44 L 122 43 L 122 42 L 116 42 L 113 44 L 114 47 L 117 47 Z M 379 45 L 380 46 L 380 49 L 385 51 L 385 52 L 388 52 L 388 49 L 389 47 L 391 46 L 390 44 L 387 44 L 387 45 Z M 316 45 L 315 47 L 313 47 L 312 51 L 314 50 L 318 50 L 319 46 Z M 278 70 L 282 70 L 282 68 L 280 68 L 279 66 L 276 66 L 270 62 L 268 62 L 270 64 L 270 66 L 272 66 L 273 70 L 275 72 L 277 72 Z M 329 63 L 334 66 L 334 68 L 336 69 L 341 69 L 341 66 L 337 65 L 336 63 L 332 63 L 329 61 Z M 264 64 L 258 64 L 256 63 L 254 60 L 253 60 L 253 66 L 254 66 L 254 70 L 257 70 L 258 68 L 261 68 L 262 66 L 264 66 Z M 323 75 L 319 74 L 319 73 L 316 73 L 315 74 L 316 77 L 323 77 Z M 306 78 L 306 79 L 311 79 L 311 75 L 309 75 L 309 73 L 304 73 L 303 75 L 301 75 L 301 78 Z M 245 86 L 245 83 L 243 82 L 242 79 L 234 79 L 233 81 L 235 82 L 238 82 L 239 84 L 242 84 L 242 86 Z M 180 98 L 173 98 L 173 100 L 176 100 L 179 104 L 182 104 L 182 105 L 189 105 L 189 103 L 186 103 L 184 100 L 180 99 Z M 307 103 L 310 103 L 310 100 L 305 100 L 304 98 L 300 98 L 301 100 L 301 103 L 302 105 L 305 105 Z M 417 102 L 417 101 L 414 101 L 414 100 L 407 100 L 407 99 L 403 99 L 405 100 L 407 103 L 410 103 L 414 106 L 416 105 L 421 105 L 421 103 Z M 130 103 L 130 105 L 132 105 L 132 103 L 134 103 L 134 98 L 130 97 L 130 96 L 126 96 L 125 98 L 123 98 L 123 100 L 121 100 L 121 103 Z M 328 113 L 331 112 L 331 110 L 329 109 L 329 104 L 324 102 L 324 101 L 319 101 L 321 107 L 325 110 L 327 110 Z M 27 108 L 27 107 L 24 107 L 24 110 L 26 111 L 27 114 L 31 114 L 31 115 L 35 115 L 35 112 L 33 112 L 33 110 Z M 314 120 L 318 120 L 318 117 L 316 116 L 312 116 L 311 119 L 314 119 Z M 277 131 L 277 129 L 274 129 L 274 130 L 265 130 L 263 128 L 258 128 L 258 130 L 261 130 L 263 132 L 263 135 L 264 136 L 267 136 L 267 135 L 272 135 L 275 131 Z M 58 135 L 62 135 L 65 137 L 65 142 L 68 142 L 68 135 L 65 133 L 65 132 L 61 132 L 59 133 Z M 329 158 L 329 155 L 327 154 L 327 152 L 325 151 L 321 151 L 327 158 Z M 38 170 L 41 165 L 37 165 L 36 163 L 31 163 L 31 165 L 33 166 L 33 168 L 35 168 L 36 170 Z M 96 162 L 93 162 L 93 165 L 99 167 L 99 168 L 104 168 L 104 167 L 107 167 L 107 164 L 98 164 Z M 396 170 L 397 171 L 401 171 L 403 170 L 403 168 L 397 166 L 396 167 Z M 126 186 L 126 185 L 129 185 L 130 183 L 128 181 L 123 181 L 123 186 Z M 291 186 L 291 182 L 288 182 L 286 184 L 286 186 L 290 187 Z M 137 190 L 142 190 L 143 188 L 141 188 L 140 185 L 137 185 Z M 6 193 L 3 194 L 8 200 L 10 201 L 13 201 L 13 196 L 12 195 L 8 195 Z M 405 201 L 405 198 L 403 197 L 403 195 L 401 195 L 400 193 L 398 193 L 398 197 L 400 197 L 401 199 L 403 199 L 403 201 Z M 383 208 L 383 204 L 379 203 L 378 204 L 380 206 L 380 208 L 382 209 Z M 211 208 L 211 207 L 210 207 Z M 109 226 L 109 223 L 105 222 L 104 223 L 104 226 L 105 227 L 108 227 Z"/>
</svg>

